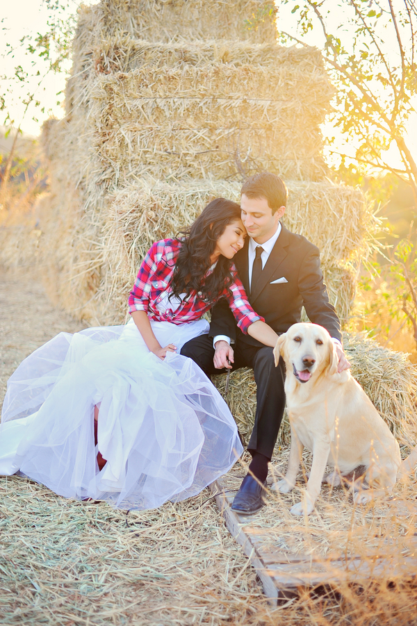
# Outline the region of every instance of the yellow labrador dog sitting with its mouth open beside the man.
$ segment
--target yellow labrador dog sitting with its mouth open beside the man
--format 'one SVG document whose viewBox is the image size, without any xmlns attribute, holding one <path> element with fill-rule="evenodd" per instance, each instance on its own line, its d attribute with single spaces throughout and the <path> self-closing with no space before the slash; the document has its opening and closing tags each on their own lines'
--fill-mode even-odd
<svg viewBox="0 0 417 626">
<path fill-rule="evenodd" d="M 391 493 L 400 468 L 400 447 L 384 420 L 349 371 L 338 374 L 338 357 L 327 330 L 318 324 L 294 324 L 274 349 L 275 365 L 286 364 L 285 392 L 291 425 L 291 450 L 284 479 L 272 489 L 288 493 L 295 486 L 303 447 L 313 463 L 302 502 L 291 513 L 311 513 L 327 465 L 334 468 L 325 480 L 364 466 L 365 481 L 354 481 L 354 502 L 363 504 Z"/>
</svg>

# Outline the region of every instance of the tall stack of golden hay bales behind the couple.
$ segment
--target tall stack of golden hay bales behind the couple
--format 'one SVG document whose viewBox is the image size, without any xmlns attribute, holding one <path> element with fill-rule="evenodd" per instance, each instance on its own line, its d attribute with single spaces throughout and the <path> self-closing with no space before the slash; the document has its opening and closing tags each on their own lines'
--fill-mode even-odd
<svg viewBox="0 0 417 626">
<path fill-rule="evenodd" d="M 320 53 L 277 46 L 272 13 L 263 0 L 80 9 L 67 114 L 43 135 L 42 267 L 67 311 L 123 322 L 152 242 L 213 197 L 238 199 L 241 181 L 266 169 L 288 183 L 286 224 L 320 247 L 347 320 L 373 216 L 358 191 L 327 177 L 319 126 L 333 89 Z"/>
</svg>

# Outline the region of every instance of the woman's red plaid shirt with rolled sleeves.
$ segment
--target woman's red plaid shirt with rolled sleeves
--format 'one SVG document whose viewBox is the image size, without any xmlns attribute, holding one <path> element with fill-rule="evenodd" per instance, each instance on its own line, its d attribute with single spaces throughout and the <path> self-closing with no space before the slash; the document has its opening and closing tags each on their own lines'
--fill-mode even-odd
<svg viewBox="0 0 417 626">
<path fill-rule="evenodd" d="M 147 252 L 129 295 L 129 313 L 146 311 L 152 320 L 183 324 L 199 320 L 215 304 L 204 302 L 201 299 L 201 293 L 195 292 L 192 292 L 188 299 L 183 299 L 181 303 L 174 299 L 170 302 L 167 299 L 167 296 L 172 293 L 170 282 L 180 247 L 181 242 L 177 239 L 163 239 L 155 242 Z M 212 267 L 206 275 L 210 272 L 213 272 Z M 247 333 L 250 324 L 257 320 L 263 322 L 265 320 L 250 306 L 245 288 L 238 278 L 234 265 L 231 267 L 231 274 L 234 279 L 230 286 L 231 295 L 225 288 L 218 299 L 227 298 L 238 327 Z"/>
</svg>

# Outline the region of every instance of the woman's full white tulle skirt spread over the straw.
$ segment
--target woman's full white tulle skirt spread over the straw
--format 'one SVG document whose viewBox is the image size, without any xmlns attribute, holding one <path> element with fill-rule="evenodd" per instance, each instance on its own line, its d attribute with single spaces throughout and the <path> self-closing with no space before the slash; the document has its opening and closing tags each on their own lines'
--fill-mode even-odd
<svg viewBox="0 0 417 626">
<path fill-rule="evenodd" d="M 208 322 L 152 328 L 179 352 Z M 101 471 L 98 452 L 107 460 Z M 22 472 L 65 497 L 152 509 L 196 495 L 242 452 L 227 404 L 202 370 L 179 354 L 158 359 L 132 320 L 60 333 L 8 381 L 0 475 Z"/>
</svg>

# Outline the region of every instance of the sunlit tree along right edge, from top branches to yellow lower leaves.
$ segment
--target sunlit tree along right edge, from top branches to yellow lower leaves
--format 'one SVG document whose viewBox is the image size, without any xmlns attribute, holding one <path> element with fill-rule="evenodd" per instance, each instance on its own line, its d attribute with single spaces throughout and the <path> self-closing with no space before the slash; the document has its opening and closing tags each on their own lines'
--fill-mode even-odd
<svg viewBox="0 0 417 626">
<path fill-rule="evenodd" d="M 373 323 L 384 318 L 387 327 L 379 330 L 388 341 L 398 333 L 389 327 L 396 319 L 399 329 L 409 326 L 417 347 L 417 165 L 407 135 L 417 103 L 417 2 L 281 0 L 281 6 L 291 8 L 295 21 L 290 34 L 279 15 L 281 41 L 306 45 L 320 35 L 336 87 L 333 122 L 345 138 L 344 149 L 336 149 L 336 142 L 332 147 L 338 175 L 361 183 L 382 204 L 398 187 L 393 176 L 412 192 L 408 235 L 391 243 L 384 263 L 375 260 L 373 277 L 363 277 L 361 287 L 373 291 L 365 311 L 373 319 L 368 329 L 375 332 Z"/>
</svg>

